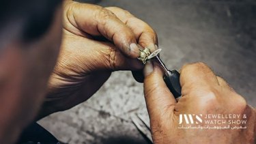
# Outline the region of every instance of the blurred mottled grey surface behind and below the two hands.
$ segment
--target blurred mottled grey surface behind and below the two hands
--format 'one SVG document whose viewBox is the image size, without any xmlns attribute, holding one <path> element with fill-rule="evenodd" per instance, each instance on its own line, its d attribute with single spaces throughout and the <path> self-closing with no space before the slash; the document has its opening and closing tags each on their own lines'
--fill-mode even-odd
<svg viewBox="0 0 256 144">
<path fill-rule="evenodd" d="M 208 63 L 256 106 L 254 0 L 108 0 L 98 5 L 124 8 L 149 23 L 170 69 Z M 67 143 L 147 143 L 130 121 L 134 113 L 147 115 L 142 84 L 130 72 L 114 72 L 87 102 L 39 123 Z"/>
</svg>

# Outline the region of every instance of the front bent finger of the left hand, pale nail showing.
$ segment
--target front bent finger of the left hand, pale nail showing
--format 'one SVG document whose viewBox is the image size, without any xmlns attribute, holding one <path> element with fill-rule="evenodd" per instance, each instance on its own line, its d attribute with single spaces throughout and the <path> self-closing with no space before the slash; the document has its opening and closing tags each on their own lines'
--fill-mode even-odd
<svg viewBox="0 0 256 144">
<path fill-rule="evenodd" d="M 77 10 L 73 12 L 72 25 L 91 35 L 103 35 L 128 57 L 139 57 L 139 47 L 134 33 L 113 12 L 98 5 L 81 3 L 79 6 L 75 5 L 75 8 Z"/>
</svg>

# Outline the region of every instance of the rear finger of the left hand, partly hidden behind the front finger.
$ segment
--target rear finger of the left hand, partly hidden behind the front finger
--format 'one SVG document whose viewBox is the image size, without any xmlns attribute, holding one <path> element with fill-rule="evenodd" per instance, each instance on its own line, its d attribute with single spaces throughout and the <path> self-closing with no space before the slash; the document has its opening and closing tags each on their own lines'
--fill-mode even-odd
<svg viewBox="0 0 256 144">
<path fill-rule="evenodd" d="M 111 10 L 123 23 L 125 23 L 130 29 L 132 29 L 137 42 L 143 48 L 150 48 L 150 51 L 153 52 L 158 48 L 158 38 L 156 32 L 150 25 L 147 25 L 143 20 L 136 18 L 130 12 L 123 10 L 122 8 L 109 7 L 106 8 Z"/>
</svg>

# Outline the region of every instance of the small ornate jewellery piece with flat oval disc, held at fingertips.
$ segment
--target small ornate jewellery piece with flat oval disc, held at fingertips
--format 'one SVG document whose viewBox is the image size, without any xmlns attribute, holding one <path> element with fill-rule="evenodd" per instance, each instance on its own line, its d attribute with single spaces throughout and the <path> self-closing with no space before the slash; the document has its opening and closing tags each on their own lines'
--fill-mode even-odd
<svg viewBox="0 0 256 144">
<path fill-rule="evenodd" d="M 141 50 L 141 55 L 138 57 L 139 60 L 141 60 L 144 64 L 146 63 L 147 59 L 152 59 L 156 57 L 162 51 L 162 49 L 157 49 L 153 53 L 150 53 L 150 48 L 145 48 L 144 50 Z"/>
</svg>

